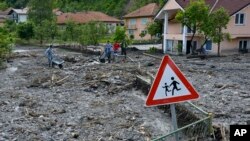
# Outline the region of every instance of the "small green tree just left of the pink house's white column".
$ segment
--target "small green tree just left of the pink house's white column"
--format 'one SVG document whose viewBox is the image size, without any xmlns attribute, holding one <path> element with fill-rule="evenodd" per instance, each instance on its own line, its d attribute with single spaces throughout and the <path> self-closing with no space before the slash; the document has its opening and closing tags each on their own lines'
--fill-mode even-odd
<svg viewBox="0 0 250 141">
<path fill-rule="evenodd" d="M 152 36 L 156 36 L 157 34 L 162 33 L 162 22 L 153 22 L 147 25 L 148 34 L 150 34 L 151 38 Z"/>
</svg>

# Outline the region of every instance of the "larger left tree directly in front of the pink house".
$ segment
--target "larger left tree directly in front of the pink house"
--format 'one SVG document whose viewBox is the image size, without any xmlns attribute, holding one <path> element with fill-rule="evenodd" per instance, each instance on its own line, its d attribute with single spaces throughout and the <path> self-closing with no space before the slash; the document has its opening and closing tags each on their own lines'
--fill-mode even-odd
<svg viewBox="0 0 250 141">
<path fill-rule="evenodd" d="M 207 21 L 209 15 L 209 6 L 205 4 L 204 0 L 191 1 L 184 9 L 179 11 L 175 19 L 187 26 L 192 31 L 191 43 L 197 31 L 201 31 L 201 26 Z M 192 53 L 195 48 L 190 44 Z"/>
</svg>

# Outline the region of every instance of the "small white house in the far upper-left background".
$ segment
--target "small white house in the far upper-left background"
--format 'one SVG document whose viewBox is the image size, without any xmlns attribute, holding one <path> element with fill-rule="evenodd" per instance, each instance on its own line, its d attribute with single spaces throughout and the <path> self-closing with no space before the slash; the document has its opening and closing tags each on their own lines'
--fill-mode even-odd
<svg viewBox="0 0 250 141">
<path fill-rule="evenodd" d="M 24 9 L 11 9 L 8 12 L 8 17 L 10 20 L 16 23 L 26 22 L 28 18 L 28 8 Z"/>
</svg>

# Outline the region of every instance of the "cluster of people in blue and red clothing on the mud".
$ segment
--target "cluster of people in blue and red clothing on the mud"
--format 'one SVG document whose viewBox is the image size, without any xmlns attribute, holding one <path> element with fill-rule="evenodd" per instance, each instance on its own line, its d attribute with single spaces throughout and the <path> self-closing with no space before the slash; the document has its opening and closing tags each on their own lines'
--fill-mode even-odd
<svg viewBox="0 0 250 141">
<path fill-rule="evenodd" d="M 115 41 L 115 43 L 112 45 L 109 41 L 107 41 L 107 44 L 105 45 L 105 58 L 108 58 L 108 62 L 111 62 L 111 57 L 119 52 L 119 49 L 121 48 L 121 55 L 127 56 L 126 49 L 128 47 L 128 44 L 125 40 L 123 40 L 121 43 L 118 43 Z"/>
</svg>

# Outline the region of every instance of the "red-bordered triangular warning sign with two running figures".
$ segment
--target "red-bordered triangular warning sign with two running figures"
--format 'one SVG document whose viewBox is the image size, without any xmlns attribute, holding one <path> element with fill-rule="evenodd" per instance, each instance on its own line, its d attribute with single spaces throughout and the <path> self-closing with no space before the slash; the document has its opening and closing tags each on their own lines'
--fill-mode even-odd
<svg viewBox="0 0 250 141">
<path fill-rule="evenodd" d="M 155 80 L 149 91 L 146 106 L 166 105 L 199 98 L 169 56 L 164 56 Z"/>
</svg>

